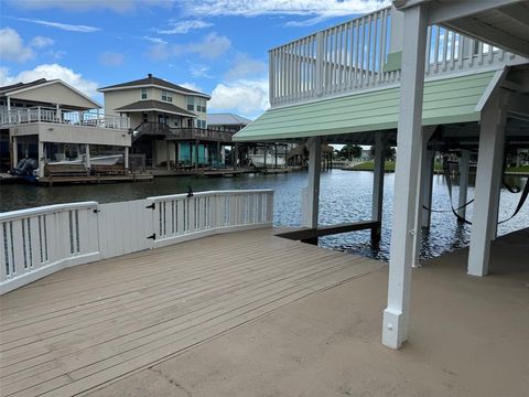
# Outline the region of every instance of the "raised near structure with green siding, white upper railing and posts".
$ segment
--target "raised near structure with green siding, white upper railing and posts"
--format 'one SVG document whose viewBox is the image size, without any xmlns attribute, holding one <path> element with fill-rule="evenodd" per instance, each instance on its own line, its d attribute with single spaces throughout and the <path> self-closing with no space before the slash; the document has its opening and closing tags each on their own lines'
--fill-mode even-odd
<svg viewBox="0 0 529 397">
<path fill-rule="evenodd" d="M 302 226 L 316 236 L 323 229 L 322 143 L 378 148 L 371 223 L 382 221 L 380 148 L 397 146 L 382 325 L 389 347 L 399 348 L 408 337 L 411 268 L 418 265 L 421 226 L 430 223 L 423 206 L 431 203 L 436 150 L 462 153 L 463 204 L 469 153 L 478 154 L 467 272 L 488 273 L 504 155 L 529 146 L 528 56 L 529 2 L 516 0 L 395 0 L 269 52 L 271 108 L 234 140 L 307 143 Z"/>
</svg>

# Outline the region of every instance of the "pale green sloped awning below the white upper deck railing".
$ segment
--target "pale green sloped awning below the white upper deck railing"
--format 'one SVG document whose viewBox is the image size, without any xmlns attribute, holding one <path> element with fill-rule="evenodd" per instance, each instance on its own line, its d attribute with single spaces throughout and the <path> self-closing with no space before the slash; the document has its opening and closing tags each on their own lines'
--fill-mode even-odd
<svg viewBox="0 0 529 397">
<path fill-rule="evenodd" d="M 479 120 L 479 104 L 501 71 L 434 79 L 424 84 L 423 126 Z M 495 77 L 496 75 L 496 77 Z M 266 141 L 397 128 L 399 87 L 376 89 L 267 110 L 234 136 Z"/>
</svg>

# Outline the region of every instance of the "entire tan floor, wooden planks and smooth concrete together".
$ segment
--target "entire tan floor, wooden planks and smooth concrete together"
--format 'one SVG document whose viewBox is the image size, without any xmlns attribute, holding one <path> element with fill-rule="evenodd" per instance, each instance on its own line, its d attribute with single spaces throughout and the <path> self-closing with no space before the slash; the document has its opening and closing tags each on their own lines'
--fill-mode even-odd
<svg viewBox="0 0 529 397">
<path fill-rule="evenodd" d="M 1 395 L 521 396 L 527 242 L 499 238 L 486 278 L 466 249 L 415 270 L 400 352 L 384 262 L 270 229 L 63 270 L 0 300 Z"/>
</svg>

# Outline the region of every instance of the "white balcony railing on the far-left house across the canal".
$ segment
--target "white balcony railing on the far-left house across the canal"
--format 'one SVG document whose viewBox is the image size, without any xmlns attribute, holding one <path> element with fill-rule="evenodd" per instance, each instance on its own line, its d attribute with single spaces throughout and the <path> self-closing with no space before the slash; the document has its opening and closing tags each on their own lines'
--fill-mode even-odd
<svg viewBox="0 0 529 397">
<path fill-rule="evenodd" d="M 129 129 L 130 119 L 121 116 L 97 115 L 88 111 L 66 111 L 55 108 L 32 107 L 0 112 L 0 126 L 28 122 L 57 122 L 72 126 Z"/>
</svg>

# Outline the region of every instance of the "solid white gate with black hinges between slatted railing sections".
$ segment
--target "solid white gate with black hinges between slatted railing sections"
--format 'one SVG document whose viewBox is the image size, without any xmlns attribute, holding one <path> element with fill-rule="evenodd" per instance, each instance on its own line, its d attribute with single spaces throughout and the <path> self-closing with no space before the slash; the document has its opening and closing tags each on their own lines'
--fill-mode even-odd
<svg viewBox="0 0 529 397">
<path fill-rule="evenodd" d="M 101 259 L 153 248 L 152 204 L 134 200 L 100 204 L 98 210 L 99 253 Z"/>
</svg>

